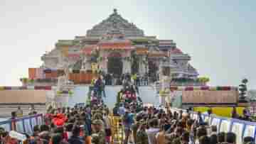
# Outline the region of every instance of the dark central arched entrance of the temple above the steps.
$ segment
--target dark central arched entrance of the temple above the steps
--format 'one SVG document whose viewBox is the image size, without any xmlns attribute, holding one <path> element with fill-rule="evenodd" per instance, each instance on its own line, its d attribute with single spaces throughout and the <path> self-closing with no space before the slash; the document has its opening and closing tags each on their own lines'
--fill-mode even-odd
<svg viewBox="0 0 256 144">
<path fill-rule="evenodd" d="M 122 55 L 119 52 L 112 52 L 107 57 L 107 72 L 119 77 L 122 74 Z"/>
</svg>

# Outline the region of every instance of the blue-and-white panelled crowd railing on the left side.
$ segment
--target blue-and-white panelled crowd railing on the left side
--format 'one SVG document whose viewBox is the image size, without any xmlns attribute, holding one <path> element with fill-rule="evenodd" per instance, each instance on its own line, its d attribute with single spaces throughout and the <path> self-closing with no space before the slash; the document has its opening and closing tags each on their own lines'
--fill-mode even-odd
<svg viewBox="0 0 256 144">
<path fill-rule="evenodd" d="M 18 133 L 27 133 L 28 135 L 33 134 L 34 126 L 41 126 L 42 124 L 43 114 L 0 121 L 0 127 L 4 128 L 5 131 L 17 131 Z"/>
</svg>

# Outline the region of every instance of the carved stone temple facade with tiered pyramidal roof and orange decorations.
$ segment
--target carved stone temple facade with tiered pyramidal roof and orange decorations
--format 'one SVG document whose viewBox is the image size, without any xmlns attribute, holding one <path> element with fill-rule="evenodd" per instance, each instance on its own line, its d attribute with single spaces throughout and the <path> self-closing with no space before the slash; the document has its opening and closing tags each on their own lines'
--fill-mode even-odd
<svg viewBox="0 0 256 144">
<path fill-rule="evenodd" d="M 144 35 L 142 29 L 122 18 L 117 9 L 86 35 L 73 40 L 58 40 L 55 48 L 41 57 L 43 69 L 97 70 L 120 74 L 197 79 L 198 72 L 189 63 L 191 57 L 176 48 L 174 40 L 159 40 Z M 165 72 L 164 72 L 165 71 Z M 170 75 L 171 74 L 171 75 Z"/>
</svg>

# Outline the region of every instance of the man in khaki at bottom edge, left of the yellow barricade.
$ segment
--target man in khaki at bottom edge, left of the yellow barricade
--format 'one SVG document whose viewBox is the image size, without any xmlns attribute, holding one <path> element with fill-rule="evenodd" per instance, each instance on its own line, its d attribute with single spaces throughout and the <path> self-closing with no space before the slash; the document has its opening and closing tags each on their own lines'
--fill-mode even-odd
<svg viewBox="0 0 256 144">
<path fill-rule="evenodd" d="M 92 121 L 92 144 L 105 144 L 105 131 L 102 128 L 103 121 L 96 119 L 95 121 Z"/>
</svg>

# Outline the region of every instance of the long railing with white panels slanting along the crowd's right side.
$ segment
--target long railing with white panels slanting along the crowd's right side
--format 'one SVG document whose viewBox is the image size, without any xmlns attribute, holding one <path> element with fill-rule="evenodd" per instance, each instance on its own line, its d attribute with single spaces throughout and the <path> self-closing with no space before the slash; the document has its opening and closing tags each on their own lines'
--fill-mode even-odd
<svg viewBox="0 0 256 144">
<path fill-rule="evenodd" d="M 186 113 L 186 110 L 183 109 L 175 109 L 171 108 L 171 111 L 176 111 L 179 113 L 179 111 L 183 111 Z M 198 120 L 198 113 L 195 111 L 190 112 L 191 118 L 194 120 Z M 250 136 L 252 138 L 256 138 L 256 123 L 250 122 L 250 121 L 242 121 L 238 120 L 236 118 L 225 118 L 221 116 L 215 116 L 215 115 L 208 115 L 206 113 L 201 114 L 201 118 L 208 123 L 210 126 L 217 126 L 217 132 L 233 132 L 236 134 L 236 142 L 242 143 L 242 139 Z"/>
</svg>

